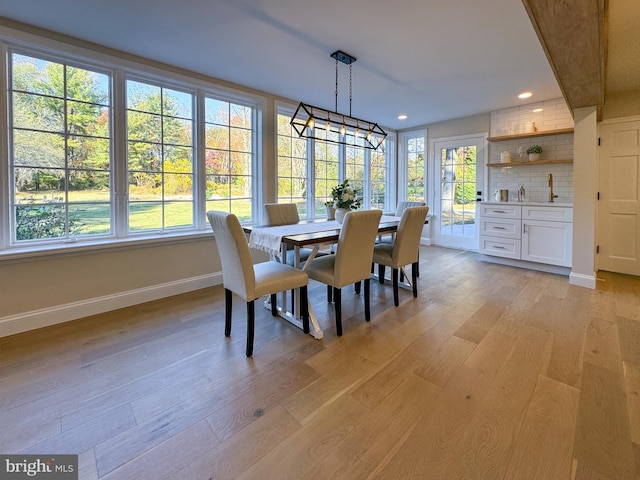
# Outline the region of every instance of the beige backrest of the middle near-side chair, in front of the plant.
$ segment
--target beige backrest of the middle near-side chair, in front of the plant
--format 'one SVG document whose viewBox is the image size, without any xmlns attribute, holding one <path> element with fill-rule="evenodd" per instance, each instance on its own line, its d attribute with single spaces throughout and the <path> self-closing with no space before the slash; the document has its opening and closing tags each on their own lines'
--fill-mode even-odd
<svg viewBox="0 0 640 480">
<path fill-rule="evenodd" d="M 333 272 L 336 286 L 342 288 L 371 275 L 373 246 L 381 216 L 380 210 L 353 211 L 345 215 Z"/>
</svg>

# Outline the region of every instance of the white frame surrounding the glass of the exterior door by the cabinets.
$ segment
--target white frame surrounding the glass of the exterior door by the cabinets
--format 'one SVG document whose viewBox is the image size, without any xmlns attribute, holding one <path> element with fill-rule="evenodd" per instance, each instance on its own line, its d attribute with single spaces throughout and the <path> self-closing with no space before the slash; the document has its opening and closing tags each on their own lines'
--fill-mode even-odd
<svg viewBox="0 0 640 480">
<path fill-rule="evenodd" d="M 455 135 L 451 137 L 439 137 L 432 138 L 429 140 L 429 169 L 431 171 L 430 181 L 429 181 L 429 196 L 430 203 L 433 205 L 433 212 L 429 210 L 429 213 L 433 214 L 433 227 L 431 230 L 431 235 L 433 239 L 433 243 L 435 245 L 441 245 L 443 247 L 449 248 L 459 248 L 462 250 L 471 250 L 478 251 L 480 246 L 480 235 L 479 230 L 477 231 L 476 237 L 473 241 L 469 241 L 469 239 L 458 239 L 453 242 L 442 242 L 443 236 L 440 234 L 440 180 L 441 180 L 441 161 L 440 156 L 438 155 L 439 149 L 441 148 L 441 144 L 457 144 L 458 146 L 461 144 L 475 144 L 476 145 L 476 204 L 483 197 L 485 197 L 485 193 L 488 188 L 488 167 L 487 160 L 489 156 L 489 148 L 488 148 L 488 133 L 471 133 L 466 135 Z M 478 185 L 478 177 L 480 178 L 480 185 Z M 480 192 L 480 194 L 478 194 Z M 484 192 L 484 193 L 483 193 Z M 476 225 L 478 225 L 478 215 L 479 208 L 476 208 Z M 452 238 L 450 238 L 451 240 Z"/>
</svg>

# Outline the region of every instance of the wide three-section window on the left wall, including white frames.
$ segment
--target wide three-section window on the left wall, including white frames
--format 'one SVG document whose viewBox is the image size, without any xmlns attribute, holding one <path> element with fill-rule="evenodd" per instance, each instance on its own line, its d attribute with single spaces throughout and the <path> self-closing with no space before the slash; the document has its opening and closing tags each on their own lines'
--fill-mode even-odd
<svg viewBox="0 0 640 480">
<path fill-rule="evenodd" d="M 210 232 L 214 209 L 257 220 L 258 98 L 88 51 L 3 45 L 1 250 Z"/>
</svg>

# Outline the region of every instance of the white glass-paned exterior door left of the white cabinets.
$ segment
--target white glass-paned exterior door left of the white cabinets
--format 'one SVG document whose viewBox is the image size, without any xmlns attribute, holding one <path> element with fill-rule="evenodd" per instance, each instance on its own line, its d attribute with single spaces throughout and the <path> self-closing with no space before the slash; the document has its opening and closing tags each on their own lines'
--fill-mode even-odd
<svg viewBox="0 0 640 480">
<path fill-rule="evenodd" d="M 478 250 L 476 199 L 484 188 L 486 136 L 468 135 L 432 142 L 436 245 Z"/>
</svg>

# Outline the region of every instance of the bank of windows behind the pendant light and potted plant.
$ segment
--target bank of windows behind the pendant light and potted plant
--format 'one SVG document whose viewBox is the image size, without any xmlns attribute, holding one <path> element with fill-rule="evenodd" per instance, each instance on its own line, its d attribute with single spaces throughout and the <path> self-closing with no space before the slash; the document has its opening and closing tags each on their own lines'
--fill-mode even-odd
<svg viewBox="0 0 640 480">
<path fill-rule="evenodd" d="M 323 135 L 327 135 L 324 129 L 316 132 L 318 139 L 301 139 L 289 125 L 290 120 L 291 112 L 286 108 L 279 109 L 279 202 L 298 203 L 302 217 L 325 217 L 324 203 L 331 198 L 331 189 L 348 178 L 361 192 L 363 208 L 393 209 L 389 178 L 391 159 L 385 149 L 389 140 L 378 150 L 367 150 L 323 141 Z M 309 191 L 309 184 L 313 185 L 313 191 Z"/>
</svg>

